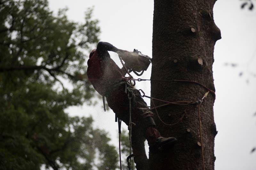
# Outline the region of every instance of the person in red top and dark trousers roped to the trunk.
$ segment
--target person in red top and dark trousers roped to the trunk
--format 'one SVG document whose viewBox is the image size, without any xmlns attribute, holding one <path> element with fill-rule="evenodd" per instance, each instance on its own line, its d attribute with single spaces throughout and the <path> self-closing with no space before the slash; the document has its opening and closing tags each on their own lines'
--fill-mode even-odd
<svg viewBox="0 0 256 170">
<path fill-rule="evenodd" d="M 94 89 L 102 96 L 106 96 L 108 106 L 116 116 L 129 125 L 129 99 L 127 92 L 132 91 L 132 150 L 137 169 L 140 162 L 147 161 L 144 141 L 148 141 L 149 152 L 157 152 L 159 148 L 172 146 L 177 139 L 174 137 L 163 138 L 155 128 L 153 113 L 147 103 L 140 96 L 139 90 L 133 88 L 126 80 L 122 79 L 125 73 L 114 60 L 110 58 L 108 51 L 124 53 L 127 51 L 117 49 L 107 42 L 99 42 L 97 49 L 93 49 L 87 62 L 87 75 Z"/>
</svg>

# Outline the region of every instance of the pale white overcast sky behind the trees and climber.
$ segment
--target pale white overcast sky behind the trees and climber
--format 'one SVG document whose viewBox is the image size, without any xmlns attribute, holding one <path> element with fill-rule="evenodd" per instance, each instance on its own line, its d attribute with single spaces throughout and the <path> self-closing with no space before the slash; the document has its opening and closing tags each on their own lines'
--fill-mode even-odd
<svg viewBox="0 0 256 170">
<path fill-rule="evenodd" d="M 93 16 L 100 20 L 101 41 L 110 42 L 120 49 L 132 51 L 136 48 L 152 55 L 153 0 L 49 0 L 49 3 L 54 12 L 68 7 L 68 18 L 79 22 L 84 21 L 84 11 L 94 6 Z M 250 70 L 256 74 L 256 9 L 241 10 L 241 3 L 239 0 L 218 0 L 214 6 L 214 20 L 222 35 L 215 45 L 213 64 L 217 95 L 214 117 L 218 130 L 215 138 L 216 170 L 256 169 L 256 152 L 250 153 L 256 146 L 256 116 L 253 117 L 256 112 L 256 78 L 246 72 Z M 118 62 L 115 53 L 111 56 Z M 226 62 L 238 66 L 225 66 Z M 244 74 L 239 77 L 241 71 Z M 150 72 L 148 69 L 142 78 L 150 78 Z M 138 89 L 143 88 L 150 95 L 150 82 L 137 84 Z M 94 107 L 71 107 L 67 111 L 71 116 L 92 115 L 94 126 L 108 131 L 112 143 L 117 146 L 115 115 L 112 111 L 104 112 L 101 105 L 99 102 Z"/>
</svg>

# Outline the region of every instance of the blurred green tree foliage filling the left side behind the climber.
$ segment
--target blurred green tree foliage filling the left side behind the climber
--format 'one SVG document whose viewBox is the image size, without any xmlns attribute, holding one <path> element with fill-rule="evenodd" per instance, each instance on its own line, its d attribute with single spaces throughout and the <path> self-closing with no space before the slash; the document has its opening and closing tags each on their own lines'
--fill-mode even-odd
<svg viewBox="0 0 256 170">
<path fill-rule="evenodd" d="M 66 11 L 54 16 L 47 0 L 0 3 L 0 169 L 116 168 L 107 133 L 93 129 L 91 117 L 64 112 L 90 104 L 82 49 L 100 32 L 92 9 L 84 24 L 68 20 Z"/>
</svg>

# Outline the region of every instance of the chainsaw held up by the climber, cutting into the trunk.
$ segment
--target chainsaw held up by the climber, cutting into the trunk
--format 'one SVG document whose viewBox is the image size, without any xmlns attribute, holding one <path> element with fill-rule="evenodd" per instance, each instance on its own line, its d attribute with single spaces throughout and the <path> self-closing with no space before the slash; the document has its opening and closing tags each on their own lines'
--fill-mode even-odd
<svg viewBox="0 0 256 170">
<path fill-rule="evenodd" d="M 138 76 L 141 76 L 152 62 L 152 58 L 142 54 L 136 49 L 134 49 L 133 52 L 118 49 L 118 56 L 123 65 L 122 70 L 126 70 L 126 72 L 128 71 L 129 73 L 133 72 Z"/>
</svg>

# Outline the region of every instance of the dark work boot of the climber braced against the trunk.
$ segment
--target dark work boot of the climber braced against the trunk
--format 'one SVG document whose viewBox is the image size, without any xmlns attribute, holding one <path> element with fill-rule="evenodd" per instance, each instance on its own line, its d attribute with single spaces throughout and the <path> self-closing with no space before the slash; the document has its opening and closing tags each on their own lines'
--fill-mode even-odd
<svg viewBox="0 0 256 170">
<path fill-rule="evenodd" d="M 173 146 L 176 142 L 177 142 L 177 139 L 174 137 L 169 137 L 169 138 L 158 137 L 156 139 L 156 142 L 149 145 L 149 152 L 156 153 L 156 152 L 164 151 L 170 148 L 171 146 Z"/>
</svg>

